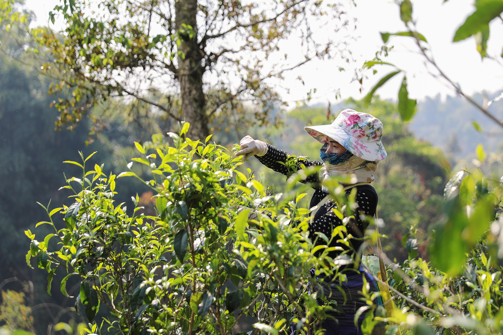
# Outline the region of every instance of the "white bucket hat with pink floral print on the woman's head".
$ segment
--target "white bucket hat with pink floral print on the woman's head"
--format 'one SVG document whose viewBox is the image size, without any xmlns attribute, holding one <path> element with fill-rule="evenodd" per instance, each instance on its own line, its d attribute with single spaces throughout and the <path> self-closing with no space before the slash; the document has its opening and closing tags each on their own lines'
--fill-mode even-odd
<svg viewBox="0 0 503 335">
<path fill-rule="evenodd" d="M 339 142 L 353 155 L 367 161 L 376 162 L 386 158 L 386 150 L 381 142 L 382 123 L 370 114 L 345 109 L 331 125 L 304 127 L 321 144 L 326 137 Z"/>
</svg>

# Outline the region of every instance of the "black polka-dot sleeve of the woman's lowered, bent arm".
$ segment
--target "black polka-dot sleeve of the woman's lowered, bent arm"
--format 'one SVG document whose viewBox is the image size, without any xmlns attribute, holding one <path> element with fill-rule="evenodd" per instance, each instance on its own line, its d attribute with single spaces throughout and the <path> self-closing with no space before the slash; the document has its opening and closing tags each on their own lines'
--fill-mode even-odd
<svg viewBox="0 0 503 335">
<path fill-rule="evenodd" d="M 358 207 L 355 213 L 355 219 L 348 222 L 346 225 L 348 229 L 348 234 L 356 238 L 363 238 L 365 231 L 367 230 L 368 222 L 361 220 L 360 214 L 365 214 L 366 216 L 373 216 L 377 207 L 377 193 L 375 190 L 368 185 L 357 186 L 358 191 L 356 194 L 356 203 Z M 346 190 L 349 194 L 351 189 Z M 313 222 L 309 226 L 309 232 L 311 239 L 316 238 L 316 232 L 320 232 L 326 235 L 328 239 L 332 235 L 332 230 L 337 226 L 343 225 L 342 220 L 336 216 L 336 214 L 331 210 L 332 208 L 337 208 L 337 204 L 334 202 L 327 202 L 321 208 L 318 209 L 314 216 Z M 339 240 L 340 238 L 334 238 L 334 240 Z M 359 251 L 363 241 L 351 239 L 351 247 L 332 241 L 330 247 L 342 247 L 344 250 L 354 250 Z M 318 239 L 316 245 L 325 245 L 325 241 Z M 328 254 L 331 258 L 335 258 L 339 255 L 340 251 L 332 251 Z"/>
</svg>

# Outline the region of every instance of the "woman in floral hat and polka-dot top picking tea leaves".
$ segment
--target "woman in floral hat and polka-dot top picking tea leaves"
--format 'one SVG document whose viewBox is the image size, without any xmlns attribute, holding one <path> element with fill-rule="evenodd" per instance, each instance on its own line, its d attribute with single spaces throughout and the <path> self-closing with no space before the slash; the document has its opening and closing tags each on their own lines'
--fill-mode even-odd
<svg viewBox="0 0 503 335">
<path fill-rule="evenodd" d="M 342 225 L 342 220 L 338 218 L 332 208 L 337 208 L 337 204 L 331 199 L 327 187 L 323 181 L 327 178 L 343 174 L 354 174 L 356 176 L 355 186 L 357 189 L 356 203 L 358 208 L 355 210 L 360 214 L 373 216 L 377 207 L 377 193 L 369 183 L 374 180 L 374 172 L 377 169 L 378 161 L 386 158 L 386 151 L 381 143 L 382 123 L 370 114 L 360 113 L 353 109 L 343 110 L 331 125 L 305 127 L 306 132 L 323 146 L 320 149 L 321 162 L 307 161 L 303 162 L 306 167 L 313 165 L 322 165 L 320 174 L 313 174 L 304 180 L 304 183 L 314 185 L 314 194 L 311 198 L 309 208 L 311 212 L 311 223 L 309 232 L 311 237 L 314 233 L 320 232 L 326 236 L 331 236 L 332 229 Z M 250 136 L 244 137 L 240 142 L 239 151 L 236 156 L 243 155 L 243 160 L 251 155 L 255 155 L 259 161 L 274 171 L 287 174 L 287 167 L 278 162 L 286 162 L 288 153 L 273 147 L 262 141 L 254 140 Z M 351 185 L 344 185 L 351 186 Z M 350 194 L 353 187 L 346 189 L 346 194 Z M 363 238 L 368 222 L 361 220 L 360 215 L 355 215 L 355 220 L 347 225 L 348 234 L 354 237 Z M 363 239 L 351 239 L 350 247 L 342 243 L 332 242 L 329 247 L 341 247 L 343 250 L 350 250 L 353 259 L 357 263 L 361 261 Z M 325 244 L 318 239 L 317 244 Z M 328 253 L 331 258 L 336 258 L 341 252 L 332 251 Z M 354 323 L 354 315 L 358 308 L 365 306 L 365 301 L 361 300 L 361 291 L 363 286 L 363 275 L 370 283 L 371 291 L 378 291 L 374 278 L 364 271 L 360 266 L 358 271 L 351 265 L 343 270 L 348 281 L 336 283 L 344 287 L 347 300 L 345 303 L 344 295 L 334 289 L 336 286 L 322 285 L 321 289 L 326 294 L 336 296 L 339 306 L 343 307 L 346 315 L 334 315 L 337 320 L 327 318 L 323 321 L 322 327 L 326 329 L 325 334 L 361 334 L 361 321 L 365 313 L 359 318 L 357 326 Z M 321 279 L 321 278 L 319 278 Z M 324 278 L 324 281 L 330 281 Z M 382 300 L 381 300 L 382 304 Z M 375 329 L 375 333 L 380 332 Z M 382 329 L 381 329 L 382 330 Z"/>
</svg>

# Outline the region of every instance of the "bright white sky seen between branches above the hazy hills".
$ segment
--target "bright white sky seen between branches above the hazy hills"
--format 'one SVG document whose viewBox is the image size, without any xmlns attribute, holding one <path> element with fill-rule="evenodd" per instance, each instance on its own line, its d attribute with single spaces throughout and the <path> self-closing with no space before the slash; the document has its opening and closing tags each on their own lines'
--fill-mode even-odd
<svg viewBox="0 0 503 335">
<path fill-rule="evenodd" d="M 355 66 L 363 65 L 365 60 L 374 57 L 382 45 L 379 32 L 403 31 L 404 25 L 400 21 L 398 8 L 392 1 L 387 0 L 356 0 L 356 8 L 348 8 L 349 14 L 358 19 L 357 36 L 360 38 L 350 45 L 350 49 L 357 62 Z M 26 0 L 28 8 L 33 10 L 38 17 L 40 25 L 47 24 L 48 12 L 59 0 Z M 435 60 L 439 66 L 461 88 L 472 94 L 487 90 L 498 91 L 503 88 L 503 66 L 490 59 L 480 59 L 475 50 L 473 37 L 462 42 L 452 43 L 452 38 L 457 28 L 466 17 L 474 11 L 473 0 L 412 0 L 413 18 L 417 21 L 418 31 L 430 42 Z M 423 59 L 416 54 L 417 49 L 411 43 L 411 38 L 395 37 L 391 39 L 394 49 L 387 58 L 388 62 L 395 63 L 407 71 L 408 91 L 412 98 L 422 99 L 425 96 L 435 96 L 438 93 L 445 96 L 453 95 L 450 87 L 446 87 L 428 74 L 423 65 Z M 503 47 L 503 23 L 494 20 L 491 24 L 491 37 L 488 42 L 489 54 L 501 55 Z M 295 51 L 295 43 L 290 43 L 290 52 Z M 499 56 L 498 56 L 499 57 Z M 499 57 L 500 60 L 501 57 Z M 364 81 L 364 91 L 359 92 L 358 83 L 350 83 L 352 71 L 339 72 L 340 60 L 312 61 L 287 74 L 286 81 L 281 85 L 290 88 L 287 93 L 280 90 L 282 96 L 288 101 L 304 98 L 306 92 L 316 88 L 311 102 L 327 101 L 336 102 L 335 91 L 341 89 L 342 98 L 353 96 L 356 99 L 363 97 L 366 92 L 385 74 L 392 71 L 392 67 L 383 66 L 379 72 L 372 75 L 369 71 L 368 80 Z M 305 85 L 295 80 L 301 75 Z M 384 98 L 396 99 L 397 91 L 402 76 L 395 76 L 386 85 L 381 87 L 377 94 Z M 293 105 L 292 105 L 293 106 Z"/>
</svg>

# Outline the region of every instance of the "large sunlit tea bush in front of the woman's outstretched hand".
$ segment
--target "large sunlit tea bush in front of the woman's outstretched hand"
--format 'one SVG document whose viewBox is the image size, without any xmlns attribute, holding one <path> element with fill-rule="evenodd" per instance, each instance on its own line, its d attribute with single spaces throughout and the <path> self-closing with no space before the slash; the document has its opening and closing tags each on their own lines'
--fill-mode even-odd
<svg viewBox="0 0 503 335">
<path fill-rule="evenodd" d="M 28 259 L 47 255 L 49 276 L 65 269 L 60 285 L 65 295 L 66 279 L 80 277 L 76 305 L 86 307 L 90 322 L 100 305 L 108 306 L 112 317 L 106 320 L 114 331 L 228 334 L 245 315 L 258 321 L 256 333 L 287 331 L 292 322 L 301 333 L 318 331 L 332 307 L 318 305 L 309 271 L 344 280 L 338 269 L 345 262 L 327 257 L 326 245 L 313 248 L 308 211 L 297 206 L 303 195 L 288 190 L 273 195 L 250 170 L 247 176 L 237 171 L 242 163 L 227 149 L 169 135 L 174 146 L 153 136 L 151 144 L 136 145 L 141 157 L 133 159 L 150 168 L 153 179 L 144 183 L 156 192 L 156 215 L 145 215 L 141 206 L 129 215 L 124 203 L 113 200 L 116 178 L 139 178 L 134 172 L 107 176 L 98 165 L 88 170 L 89 157 L 81 155 L 81 177 L 67 179 L 65 186 L 74 191 L 73 203 L 44 207 L 49 220 L 42 224 L 54 230 L 44 240 L 54 237 L 58 247 L 27 231 L 34 246 Z M 298 170 L 290 179 L 306 173 L 312 172 Z M 348 203 L 342 214 L 354 215 L 354 199 L 339 194 L 340 188 L 334 192 Z M 67 224 L 59 230 L 52 219 L 57 211 Z M 341 226 L 323 238 L 329 245 L 343 241 L 345 232 Z M 345 253 L 342 260 L 351 256 Z"/>
</svg>

